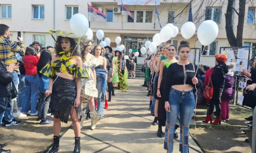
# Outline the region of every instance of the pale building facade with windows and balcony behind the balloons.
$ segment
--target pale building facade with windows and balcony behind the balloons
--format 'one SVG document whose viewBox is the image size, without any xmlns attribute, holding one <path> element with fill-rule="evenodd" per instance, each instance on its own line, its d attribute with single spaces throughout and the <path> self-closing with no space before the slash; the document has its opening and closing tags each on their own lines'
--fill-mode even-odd
<svg viewBox="0 0 256 153">
<path fill-rule="evenodd" d="M 38 41 L 44 46 L 54 46 L 55 42 L 47 31 L 56 29 L 71 32 L 69 20 L 73 14 L 82 13 L 88 18 L 87 4 L 98 8 L 107 15 L 105 22 L 90 20 L 92 29 L 93 44 L 97 44 L 96 31 L 99 29 L 105 33 L 104 37 L 111 39 L 111 47 L 115 48 L 115 38 L 122 38 L 121 44 L 129 48 L 141 48 L 146 40 L 152 40 L 154 34 L 160 32 L 157 17 L 154 15 L 155 6 L 149 5 L 126 5 L 127 9 L 134 14 L 132 19 L 127 15 L 122 15 L 118 0 L 0 0 L 0 23 L 10 27 L 13 40 L 16 40 L 18 31 L 24 37 L 24 43 L 29 46 L 33 41 Z M 236 0 L 235 9 L 239 8 Z M 157 6 L 160 13 L 160 24 L 165 26 L 172 23 L 181 26 L 188 21 L 189 7 L 184 9 L 190 0 L 160 0 Z M 198 15 L 197 10 L 201 8 L 201 20 L 196 23 L 196 27 L 204 20 L 214 20 L 219 27 L 217 39 L 207 47 L 210 55 L 203 55 L 202 64 L 214 66 L 214 55 L 219 53 L 220 47 L 228 47 L 225 31 L 225 13 L 227 0 L 224 3 L 216 2 L 211 6 L 199 6 L 200 0 L 192 3 L 193 17 Z M 244 46 L 256 46 L 256 2 L 247 3 L 245 7 L 245 23 L 243 32 Z M 182 15 L 174 18 L 182 12 Z M 234 14 L 234 25 L 236 27 L 238 15 Z M 236 28 L 235 28 L 236 29 Z M 236 35 L 236 34 L 235 34 Z M 171 39 L 171 44 L 178 45 L 184 38 L 179 34 Z M 189 39 L 190 46 L 202 48 L 197 39 L 196 33 Z M 144 58 L 144 57 L 143 57 Z M 142 58 L 142 59 L 143 59 Z"/>
</svg>

